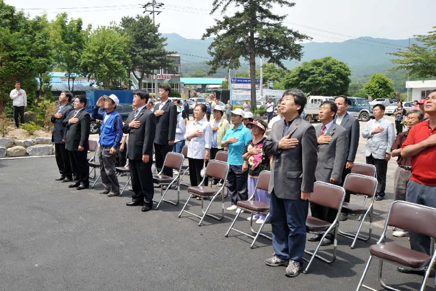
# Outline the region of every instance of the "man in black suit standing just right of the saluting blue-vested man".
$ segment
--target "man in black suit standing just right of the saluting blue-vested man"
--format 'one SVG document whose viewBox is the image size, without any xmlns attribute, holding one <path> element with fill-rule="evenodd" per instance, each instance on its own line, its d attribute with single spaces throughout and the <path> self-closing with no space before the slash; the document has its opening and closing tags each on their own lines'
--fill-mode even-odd
<svg viewBox="0 0 436 291">
<path fill-rule="evenodd" d="M 129 114 L 123 126 L 123 132 L 129 134 L 127 158 L 133 189 L 132 201 L 127 202 L 126 205 L 143 205 L 143 212 L 151 210 L 154 194 L 151 164 L 153 163 L 156 117 L 146 107 L 148 98 L 149 94 L 146 90 L 135 91 L 133 106 L 136 110 Z"/>
</svg>

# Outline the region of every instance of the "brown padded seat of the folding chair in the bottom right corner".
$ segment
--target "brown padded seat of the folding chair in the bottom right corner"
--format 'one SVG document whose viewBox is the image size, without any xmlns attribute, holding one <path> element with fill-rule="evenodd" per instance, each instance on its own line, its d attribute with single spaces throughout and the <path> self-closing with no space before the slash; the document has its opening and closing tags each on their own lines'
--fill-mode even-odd
<svg viewBox="0 0 436 291">
<path fill-rule="evenodd" d="M 431 259 L 429 255 L 421 253 L 420 251 L 412 250 L 391 242 L 371 245 L 369 252 L 375 257 L 416 269 L 427 266 Z"/>
</svg>

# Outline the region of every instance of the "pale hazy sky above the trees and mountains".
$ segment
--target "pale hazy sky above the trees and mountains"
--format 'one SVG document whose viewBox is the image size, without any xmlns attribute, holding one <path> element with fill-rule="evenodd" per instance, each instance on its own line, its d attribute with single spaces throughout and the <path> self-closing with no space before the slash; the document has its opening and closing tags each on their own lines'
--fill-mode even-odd
<svg viewBox="0 0 436 291">
<path fill-rule="evenodd" d="M 220 13 L 209 15 L 212 0 L 158 0 L 164 9 L 156 15 L 161 32 L 175 32 L 187 38 L 200 38 L 214 24 Z M 47 13 L 50 19 L 68 12 L 81 17 L 93 27 L 119 23 L 126 15 L 142 14 L 139 1 L 75 0 L 54 2 L 5 0 L 6 4 L 24 9 L 31 16 Z M 144 3 L 147 3 L 145 0 Z M 273 12 L 286 14 L 286 25 L 313 37 L 316 42 L 341 42 L 359 36 L 400 39 L 425 34 L 436 26 L 434 0 L 295 0 L 293 8 L 275 7 Z M 97 8 L 98 7 L 98 8 Z"/>
</svg>

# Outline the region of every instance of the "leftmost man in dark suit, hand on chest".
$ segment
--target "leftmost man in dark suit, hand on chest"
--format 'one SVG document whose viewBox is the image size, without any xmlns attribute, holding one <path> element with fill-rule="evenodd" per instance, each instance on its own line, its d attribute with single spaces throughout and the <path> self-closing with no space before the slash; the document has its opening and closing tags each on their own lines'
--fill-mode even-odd
<svg viewBox="0 0 436 291">
<path fill-rule="evenodd" d="M 56 181 L 71 182 L 73 181 L 73 174 L 71 172 L 70 157 L 68 150 L 65 149 L 65 127 L 62 122 L 70 114 L 73 107 L 69 104 L 73 94 L 70 91 L 62 91 L 59 95 L 59 107 L 56 112 L 51 115 L 51 123 L 53 123 L 53 132 L 51 134 L 51 141 L 54 142 L 54 153 L 56 156 L 56 164 L 61 177 L 55 179 Z"/>
</svg>

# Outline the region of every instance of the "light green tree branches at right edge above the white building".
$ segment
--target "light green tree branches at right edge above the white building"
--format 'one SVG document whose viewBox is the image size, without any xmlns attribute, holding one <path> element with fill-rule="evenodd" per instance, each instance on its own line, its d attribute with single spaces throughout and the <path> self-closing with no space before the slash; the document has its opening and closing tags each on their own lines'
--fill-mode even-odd
<svg viewBox="0 0 436 291">
<path fill-rule="evenodd" d="M 433 27 L 436 29 L 436 26 Z M 436 30 L 428 32 L 428 35 L 415 35 L 418 44 L 412 44 L 405 50 L 389 53 L 397 56 L 391 62 L 398 66 L 390 71 L 406 70 L 406 76 L 426 79 L 436 76 Z M 419 45 L 422 43 L 422 45 Z"/>
</svg>

